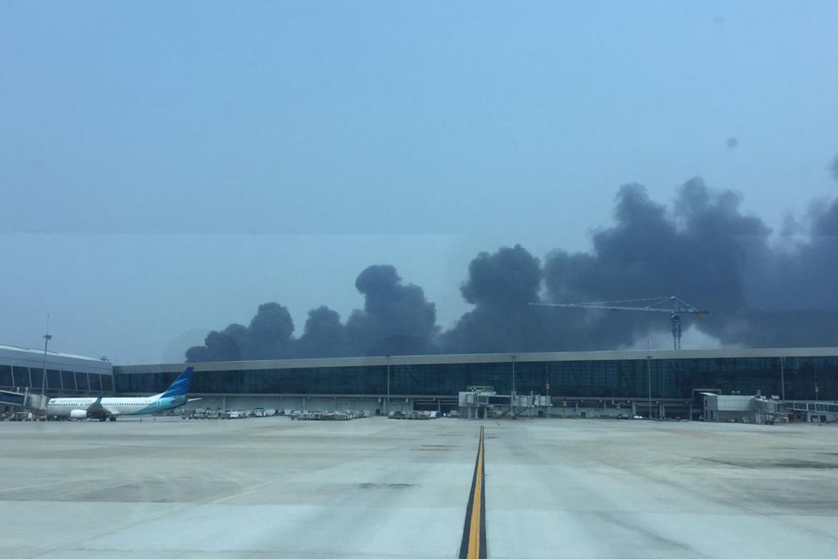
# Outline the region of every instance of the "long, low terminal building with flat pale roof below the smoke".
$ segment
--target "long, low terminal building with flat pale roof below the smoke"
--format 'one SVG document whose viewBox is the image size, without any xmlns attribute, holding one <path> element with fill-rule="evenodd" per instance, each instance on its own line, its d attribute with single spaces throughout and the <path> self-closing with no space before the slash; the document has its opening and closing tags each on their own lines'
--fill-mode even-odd
<svg viewBox="0 0 838 559">
<path fill-rule="evenodd" d="M 549 401 L 549 408 L 530 412 L 567 417 L 697 418 L 706 393 L 838 406 L 838 348 L 392 355 L 194 367 L 190 393 L 203 398 L 198 406 L 237 409 L 450 411 L 458 407 L 459 393 L 474 387 L 507 399 L 513 391 L 546 396 L 539 401 Z M 116 393 L 163 391 L 183 368 L 115 366 Z"/>
</svg>

